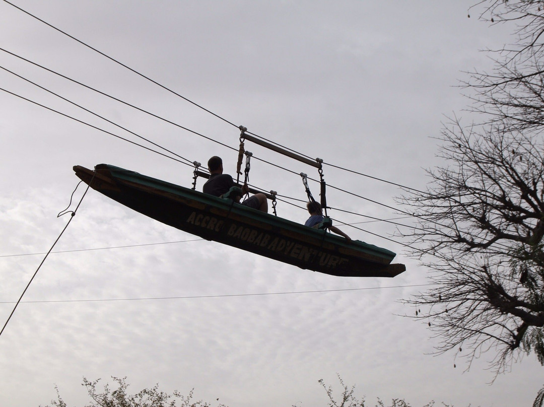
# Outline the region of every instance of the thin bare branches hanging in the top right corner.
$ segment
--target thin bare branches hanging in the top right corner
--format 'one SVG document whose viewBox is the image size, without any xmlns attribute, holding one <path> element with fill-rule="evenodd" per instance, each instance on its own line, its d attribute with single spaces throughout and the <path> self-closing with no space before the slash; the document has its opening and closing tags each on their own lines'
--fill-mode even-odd
<svg viewBox="0 0 544 407">
<path fill-rule="evenodd" d="M 494 58 L 492 73 L 468 72 L 465 85 L 474 90 L 472 110 L 502 131 L 540 132 L 544 125 L 544 1 L 484 0 L 480 19 L 510 24 L 514 42 L 487 50 Z"/>
</svg>

